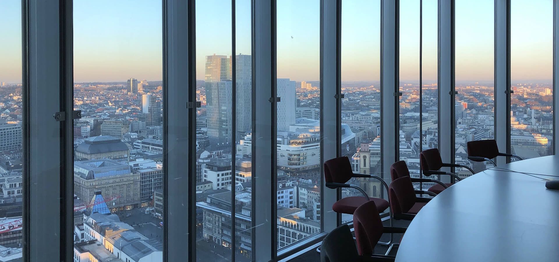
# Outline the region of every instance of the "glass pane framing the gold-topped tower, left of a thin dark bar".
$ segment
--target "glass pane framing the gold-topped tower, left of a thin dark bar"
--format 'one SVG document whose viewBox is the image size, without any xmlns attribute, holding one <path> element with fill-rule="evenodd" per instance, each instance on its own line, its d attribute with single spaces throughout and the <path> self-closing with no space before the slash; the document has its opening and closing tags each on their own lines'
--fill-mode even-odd
<svg viewBox="0 0 559 262">
<path fill-rule="evenodd" d="M 196 96 L 202 101 L 196 127 L 197 261 L 230 261 L 233 254 L 231 10 L 231 1 L 196 1 Z"/>
</svg>

